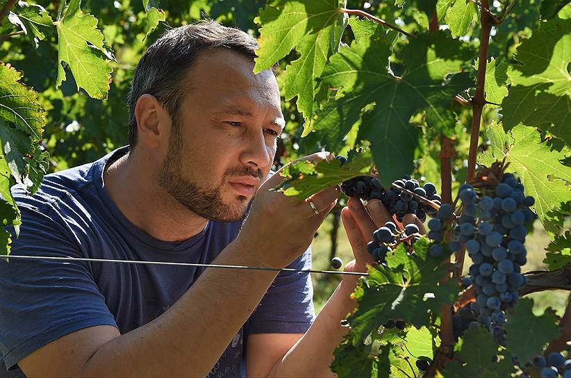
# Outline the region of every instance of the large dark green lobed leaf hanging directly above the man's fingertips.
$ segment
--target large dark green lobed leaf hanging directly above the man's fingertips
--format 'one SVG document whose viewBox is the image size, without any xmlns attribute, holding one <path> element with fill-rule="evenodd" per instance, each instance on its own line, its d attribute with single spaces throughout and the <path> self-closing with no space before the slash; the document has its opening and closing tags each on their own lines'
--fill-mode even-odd
<svg viewBox="0 0 571 378">
<path fill-rule="evenodd" d="M 452 106 L 454 95 L 470 85 L 467 74 L 447 77 L 460 72 L 470 56 L 464 44 L 449 33 L 413 38 L 400 54 L 406 67 L 401 76 L 395 76 L 384 63 L 388 63 L 394 37 L 388 33 L 383 38 L 361 38 L 331 57 L 321 79 L 343 94 L 317 111 L 312 128 L 334 150 L 365 112 L 357 138 L 372 142 L 374 161 L 386 186 L 413 170 L 422 130 L 408 122 L 411 115 L 425 110 L 431 127 L 452 135 L 456 120 L 452 112 L 442 109 Z"/>
</svg>

